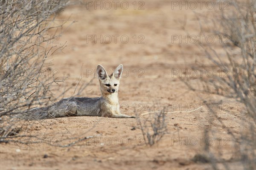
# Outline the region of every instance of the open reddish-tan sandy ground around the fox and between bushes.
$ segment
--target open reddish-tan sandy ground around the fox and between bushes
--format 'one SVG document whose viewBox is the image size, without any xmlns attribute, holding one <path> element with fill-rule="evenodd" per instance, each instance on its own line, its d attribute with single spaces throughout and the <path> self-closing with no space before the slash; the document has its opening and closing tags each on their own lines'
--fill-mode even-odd
<svg viewBox="0 0 256 170">
<path fill-rule="evenodd" d="M 247 128 L 241 123 L 245 114 L 241 104 L 222 96 L 191 91 L 179 79 L 181 71 L 200 68 L 198 62 L 207 65 L 208 69 L 212 68 L 212 63 L 198 45 L 188 39 L 187 43 L 186 40 L 174 40 L 173 36 L 185 37 L 189 32 L 196 37 L 206 37 L 207 34 L 200 30 L 195 12 L 211 15 L 213 10 L 205 6 L 195 10 L 189 6 L 187 10 L 186 6 L 180 9 L 172 1 L 126 2 L 129 3 L 126 10 L 120 4 L 110 10 L 105 9 L 108 4 L 105 8 L 102 5 L 102 10 L 99 7 L 95 10 L 95 4 L 81 4 L 65 8 L 58 14 L 57 20 L 67 20 L 64 28 L 73 20 L 76 22 L 57 40 L 57 45 L 67 42 L 67 47 L 48 60 L 54 64 L 51 69 L 57 71 L 59 77 L 70 77 L 65 83 L 55 85 L 59 88 L 55 95 L 61 94 L 65 87 L 73 86 L 63 97 L 72 96 L 80 74 L 83 77 L 80 83 L 90 82 L 95 77 L 98 64 L 111 70 L 123 64 L 125 71 L 119 87 L 122 113 L 135 116 L 134 111 L 140 115 L 168 106 L 169 112 L 176 111 L 166 115 L 168 133 L 150 147 L 145 145 L 136 119 L 81 116 L 24 122 L 20 135 L 39 138 L 32 138 L 28 144 L 2 143 L 1 170 L 210 169 L 210 163 L 192 161 L 196 154 L 204 154 L 207 142 L 209 150 L 219 152 L 218 159 L 226 161 L 230 169 L 242 168 L 235 161 L 231 136 L 211 116 L 205 105 L 201 104 L 202 108 L 197 111 L 183 112 L 193 110 L 204 100 L 217 102 L 222 99 L 228 104 L 229 112 L 222 110 L 227 107 L 223 103 L 215 105 L 215 109 L 225 125 L 237 135 Z M 136 7 L 132 4 L 134 2 Z M 207 23 L 201 24 L 207 27 Z M 207 43 L 205 38 L 202 40 Z M 221 50 L 217 39 L 211 45 Z M 192 74 L 187 72 L 181 77 L 188 75 L 189 84 L 201 89 L 201 83 Z M 100 96 L 98 83 L 98 79 L 94 78 L 80 96 Z M 152 116 L 146 114 L 140 117 L 145 120 L 153 119 Z M 210 136 L 205 136 L 204 131 L 208 129 L 212 130 Z M 85 140 L 85 137 L 88 139 Z M 16 140 L 22 142 L 27 139 Z M 217 164 L 218 168 L 224 168 L 221 162 Z"/>
</svg>

